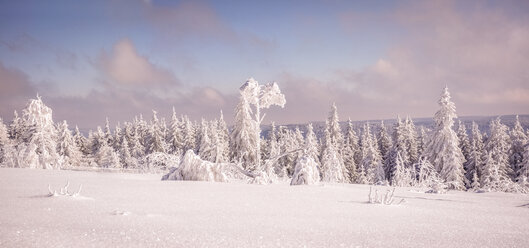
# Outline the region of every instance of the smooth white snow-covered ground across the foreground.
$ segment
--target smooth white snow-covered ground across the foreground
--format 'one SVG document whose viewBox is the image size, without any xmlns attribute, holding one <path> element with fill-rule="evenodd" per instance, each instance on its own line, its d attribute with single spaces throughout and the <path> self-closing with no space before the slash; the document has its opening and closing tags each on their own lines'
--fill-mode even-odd
<svg viewBox="0 0 529 248">
<path fill-rule="evenodd" d="M 0 247 L 527 247 L 529 196 L 0 169 Z M 79 197 L 47 197 L 70 181 Z M 378 187 L 385 190 L 383 187 Z"/>
</svg>

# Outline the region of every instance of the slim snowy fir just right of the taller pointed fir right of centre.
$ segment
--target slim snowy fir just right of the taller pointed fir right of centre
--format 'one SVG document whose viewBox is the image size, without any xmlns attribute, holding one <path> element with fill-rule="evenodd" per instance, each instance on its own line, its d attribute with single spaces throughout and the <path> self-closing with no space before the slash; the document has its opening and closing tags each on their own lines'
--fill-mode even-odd
<svg viewBox="0 0 529 248">
<path fill-rule="evenodd" d="M 344 137 L 344 146 L 343 146 L 343 161 L 345 164 L 345 169 L 348 172 L 349 182 L 355 183 L 358 180 L 358 165 L 356 160 L 357 154 L 360 153 L 360 148 L 358 146 L 358 137 L 356 132 L 353 129 L 353 124 L 351 119 L 347 121 L 347 131 Z"/>
</svg>

